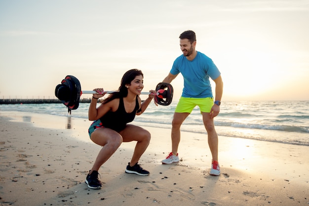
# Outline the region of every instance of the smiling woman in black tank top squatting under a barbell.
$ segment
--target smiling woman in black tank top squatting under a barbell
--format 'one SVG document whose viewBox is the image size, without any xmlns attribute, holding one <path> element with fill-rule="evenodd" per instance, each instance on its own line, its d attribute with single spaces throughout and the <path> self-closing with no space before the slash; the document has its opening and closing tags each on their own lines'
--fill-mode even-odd
<svg viewBox="0 0 309 206">
<path fill-rule="evenodd" d="M 124 73 L 119 90 L 105 99 L 99 107 L 97 100 L 106 92 L 103 88 L 94 89 L 89 105 L 88 118 L 94 120 L 88 133 L 91 140 L 103 146 L 92 169 L 86 177 L 86 184 L 91 189 L 100 189 L 102 183 L 98 179 L 98 170 L 115 153 L 122 142 L 137 141 L 131 161 L 125 169 L 126 173 L 149 175 L 147 170 L 138 165 L 138 161 L 149 145 L 151 135 L 141 127 L 127 124 L 132 122 L 135 115 L 142 114 L 155 96 L 155 91 L 142 103 L 139 95 L 144 87 L 143 73 L 131 69 Z"/>
</svg>

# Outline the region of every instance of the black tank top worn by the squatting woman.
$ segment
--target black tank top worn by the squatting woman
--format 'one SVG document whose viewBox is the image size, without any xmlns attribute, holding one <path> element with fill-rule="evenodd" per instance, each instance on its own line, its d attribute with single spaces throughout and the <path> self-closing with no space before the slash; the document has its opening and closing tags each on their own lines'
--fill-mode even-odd
<svg viewBox="0 0 309 206">
<path fill-rule="evenodd" d="M 139 109 L 138 99 L 136 98 L 135 108 L 131 113 L 127 113 L 124 108 L 123 98 L 119 98 L 118 109 L 113 112 L 107 112 L 100 118 L 102 125 L 106 128 L 120 132 L 123 130 L 127 123 L 132 122 L 135 118 L 136 111 Z"/>
</svg>

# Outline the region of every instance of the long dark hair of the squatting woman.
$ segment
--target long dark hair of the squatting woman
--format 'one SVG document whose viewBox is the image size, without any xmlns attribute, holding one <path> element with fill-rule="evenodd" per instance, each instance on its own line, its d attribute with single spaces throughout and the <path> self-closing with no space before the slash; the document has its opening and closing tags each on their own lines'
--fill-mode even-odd
<svg viewBox="0 0 309 206">
<path fill-rule="evenodd" d="M 139 69 L 130 69 L 125 72 L 122 76 L 118 91 L 110 94 L 105 100 L 103 100 L 102 103 L 108 103 L 117 98 L 126 97 L 128 95 L 128 88 L 126 88 L 125 85 L 131 84 L 131 81 L 133 81 L 134 78 L 139 75 L 142 75 L 142 77 L 144 78 L 143 72 Z"/>
</svg>

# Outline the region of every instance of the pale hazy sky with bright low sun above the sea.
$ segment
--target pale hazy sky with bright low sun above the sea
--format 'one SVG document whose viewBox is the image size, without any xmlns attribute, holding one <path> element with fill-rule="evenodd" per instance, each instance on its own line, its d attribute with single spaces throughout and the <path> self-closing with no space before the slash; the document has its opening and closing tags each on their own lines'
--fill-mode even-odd
<svg viewBox="0 0 309 206">
<path fill-rule="evenodd" d="M 54 99 L 66 75 L 116 90 L 133 68 L 148 92 L 193 30 L 222 102 L 309 100 L 308 25 L 309 0 L 0 0 L 0 98 Z M 181 74 L 171 84 L 178 100 Z"/>
</svg>

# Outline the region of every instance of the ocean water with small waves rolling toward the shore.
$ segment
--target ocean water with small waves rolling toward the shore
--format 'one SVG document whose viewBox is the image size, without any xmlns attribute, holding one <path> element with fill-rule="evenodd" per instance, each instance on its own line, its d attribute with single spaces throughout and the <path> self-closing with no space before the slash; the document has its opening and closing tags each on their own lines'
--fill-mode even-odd
<svg viewBox="0 0 309 206">
<path fill-rule="evenodd" d="M 152 102 L 142 115 L 135 117 L 133 124 L 170 129 L 176 104 L 155 106 Z M 88 119 L 88 106 L 89 103 L 80 103 L 76 110 L 72 110 L 71 116 Z M 227 101 L 220 109 L 220 114 L 214 119 L 219 136 L 309 146 L 309 101 Z M 61 103 L 0 104 L 1 110 L 69 115 Z M 193 109 L 181 130 L 206 134 L 198 107 Z"/>
</svg>

